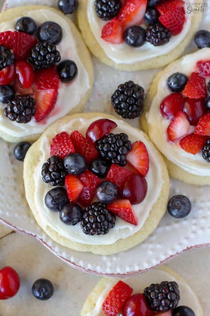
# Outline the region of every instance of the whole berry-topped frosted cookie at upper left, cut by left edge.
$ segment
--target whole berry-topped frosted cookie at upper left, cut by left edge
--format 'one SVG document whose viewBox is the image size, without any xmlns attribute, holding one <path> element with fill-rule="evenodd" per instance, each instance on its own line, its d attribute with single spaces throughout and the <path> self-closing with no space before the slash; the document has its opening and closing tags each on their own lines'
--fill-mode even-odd
<svg viewBox="0 0 210 316">
<path fill-rule="evenodd" d="M 80 112 L 93 83 L 74 24 L 44 6 L 0 14 L 0 136 L 34 141 L 56 119 Z"/>
</svg>

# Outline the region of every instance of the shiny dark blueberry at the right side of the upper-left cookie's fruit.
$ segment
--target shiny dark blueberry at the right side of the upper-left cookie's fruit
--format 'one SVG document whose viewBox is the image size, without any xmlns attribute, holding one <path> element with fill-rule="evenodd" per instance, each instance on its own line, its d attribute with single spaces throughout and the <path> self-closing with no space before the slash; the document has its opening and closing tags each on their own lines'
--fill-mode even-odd
<svg viewBox="0 0 210 316">
<path fill-rule="evenodd" d="M 60 78 L 60 81 L 62 82 L 71 82 L 74 80 L 74 78 L 77 76 L 77 65 L 72 60 L 65 60 L 62 61 L 58 65 L 58 75 Z"/>
</svg>

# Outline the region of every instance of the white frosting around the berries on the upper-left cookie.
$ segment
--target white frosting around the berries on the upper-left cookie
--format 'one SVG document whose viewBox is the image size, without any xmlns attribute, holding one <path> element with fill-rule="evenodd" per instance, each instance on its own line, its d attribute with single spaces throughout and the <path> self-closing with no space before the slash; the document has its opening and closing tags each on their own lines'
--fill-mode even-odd
<svg viewBox="0 0 210 316">
<path fill-rule="evenodd" d="M 5 105 L 0 103 L 0 130 L 14 137 L 42 133 L 51 123 L 65 116 L 71 109 L 77 106 L 81 98 L 90 88 L 88 73 L 78 56 L 76 43 L 67 21 L 50 9 L 33 10 L 27 12 L 26 15 L 33 18 L 38 27 L 45 21 L 54 21 L 61 26 L 63 38 L 60 44 L 57 45 L 57 49 L 60 51 L 61 60 L 71 59 L 77 64 L 78 74 L 72 83 L 60 82 L 58 98 L 54 109 L 41 122 L 36 122 L 34 119 L 27 124 L 12 122 L 5 117 L 3 113 Z M 17 20 L 18 17 L 14 20 L 0 23 L 0 32 L 8 30 L 14 31 Z"/>
</svg>

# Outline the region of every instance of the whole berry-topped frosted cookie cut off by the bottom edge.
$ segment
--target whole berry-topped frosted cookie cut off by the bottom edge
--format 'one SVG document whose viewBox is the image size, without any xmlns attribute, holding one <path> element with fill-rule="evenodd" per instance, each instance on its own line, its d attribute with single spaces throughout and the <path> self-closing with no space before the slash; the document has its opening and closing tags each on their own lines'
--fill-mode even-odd
<svg viewBox="0 0 210 316">
<path fill-rule="evenodd" d="M 166 266 L 138 276 L 100 279 L 81 316 L 202 316 L 190 286 Z"/>
</svg>

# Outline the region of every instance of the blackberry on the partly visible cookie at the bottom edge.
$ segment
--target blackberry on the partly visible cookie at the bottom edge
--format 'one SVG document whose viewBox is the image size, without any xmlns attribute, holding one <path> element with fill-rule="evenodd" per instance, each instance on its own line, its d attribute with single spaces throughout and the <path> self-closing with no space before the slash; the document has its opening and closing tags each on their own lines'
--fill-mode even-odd
<svg viewBox="0 0 210 316">
<path fill-rule="evenodd" d="M 146 302 L 152 311 L 167 312 L 177 307 L 180 295 L 176 282 L 152 283 L 144 289 Z"/>
</svg>

